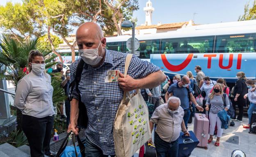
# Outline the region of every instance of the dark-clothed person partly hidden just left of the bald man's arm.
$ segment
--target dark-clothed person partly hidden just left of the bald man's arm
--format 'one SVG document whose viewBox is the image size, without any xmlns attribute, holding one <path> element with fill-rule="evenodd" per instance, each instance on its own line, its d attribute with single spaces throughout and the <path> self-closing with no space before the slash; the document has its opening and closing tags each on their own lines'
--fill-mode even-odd
<svg viewBox="0 0 256 157">
<path fill-rule="evenodd" d="M 70 85 L 70 70 L 68 69 L 66 71 L 66 77 L 61 83 L 61 86 L 65 90 L 65 95 L 67 96 L 67 99 L 65 100 L 65 112 L 66 112 L 66 128 L 69 126 L 70 121 L 70 102 L 69 102 L 69 85 Z"/>
</svg>

